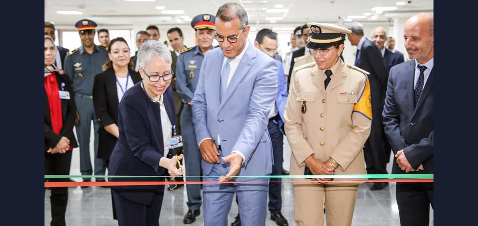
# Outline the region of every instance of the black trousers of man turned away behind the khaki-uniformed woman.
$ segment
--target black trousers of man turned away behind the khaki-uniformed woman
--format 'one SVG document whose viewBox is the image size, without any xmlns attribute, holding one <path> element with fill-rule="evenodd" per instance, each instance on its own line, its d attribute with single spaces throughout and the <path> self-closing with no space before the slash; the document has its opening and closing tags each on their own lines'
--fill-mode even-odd
<svg viewBox="0 0 478 226">
<path fill-rule="evenodd" d="M 390 146 L 383 129 L 382 111 L 372 112 L 372 117 L 369 139 L 364 146 L 367 174 L 388 174 L 387 162 L 390 159 Z M 389 150 L 387 151 L 387 149 Z"/>
</svg>

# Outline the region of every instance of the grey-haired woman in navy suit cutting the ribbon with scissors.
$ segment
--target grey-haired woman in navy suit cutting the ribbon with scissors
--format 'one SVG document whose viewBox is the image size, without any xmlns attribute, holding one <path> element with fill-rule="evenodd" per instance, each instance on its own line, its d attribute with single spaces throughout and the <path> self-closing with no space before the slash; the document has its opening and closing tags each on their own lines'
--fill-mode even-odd
<svg viewBox="0 0 478 226">
<path fill-rule="evenodd" d="M 181 176 L 183 155 L 174 156 L 175 120 L 171 52 L 149 40 L 138 52 L 141 82 L 118 107 L 118 142 L 109 158 L 109 175 Z M 165 177 L 110 178 L 111 181 L 164 181 Z M 164 185 L 112 186 L 119 226 L 158 226 Z"/>
</svg>

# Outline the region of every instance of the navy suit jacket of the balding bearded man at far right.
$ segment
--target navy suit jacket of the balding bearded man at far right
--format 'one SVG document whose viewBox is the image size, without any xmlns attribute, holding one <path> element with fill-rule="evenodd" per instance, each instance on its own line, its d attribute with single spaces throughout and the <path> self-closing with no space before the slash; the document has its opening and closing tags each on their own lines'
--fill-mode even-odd
<svg viewBox="0 0 478 226">
<path fill-rule="evenodd" d="M 423 164 L 418 173 L 433 173 L 433 68 L 416 108 L 414 76 L 415 60 L 391 68 L 383 124 L 393 153 L 403 149 L 413 169 Z M 392 173 L 405 173 L 393 163 Z"/>
</svg>

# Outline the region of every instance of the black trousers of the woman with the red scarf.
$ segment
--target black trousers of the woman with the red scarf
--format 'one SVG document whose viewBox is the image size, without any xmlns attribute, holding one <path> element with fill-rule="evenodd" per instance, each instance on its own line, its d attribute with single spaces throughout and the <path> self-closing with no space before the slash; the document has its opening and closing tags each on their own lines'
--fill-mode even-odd
<svg viewBox="0 0 478 226">
<path fill-rule="evenodd" d="M 46 175 L 69 175 L 71 164 L 71 151 L 64 154 L 50 154 L 45 152 L 45 174 Z M 68 178 L 48 179 L 48 181 L 65 181 Z M 51 226 L 65 226 L 66 204 L 68 202 L 68 188 L 51 188 Z"/>
</svg>

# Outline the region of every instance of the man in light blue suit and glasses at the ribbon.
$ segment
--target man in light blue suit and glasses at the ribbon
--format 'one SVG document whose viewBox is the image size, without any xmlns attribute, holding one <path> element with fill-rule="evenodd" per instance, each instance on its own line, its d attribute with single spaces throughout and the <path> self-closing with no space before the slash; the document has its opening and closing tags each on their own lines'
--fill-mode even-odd
<svg viewBox="0 0 478 226">
<path fill-rule="evenodd" d="M 192 101 L 203 175 L 210 176 L 204 181 L 251 182 L 205 184 L 205 226 L 227 225 L 234 193 L 242 225 L 265 225 L 268 178 L 231 177 L 272 172 L 267 122 L 277 92 L 277 64 L 247 42 L 249 30 L 242 6 L 219 8 L 215 38 L 220 48 L 204 57 Z"/>
</svg>

